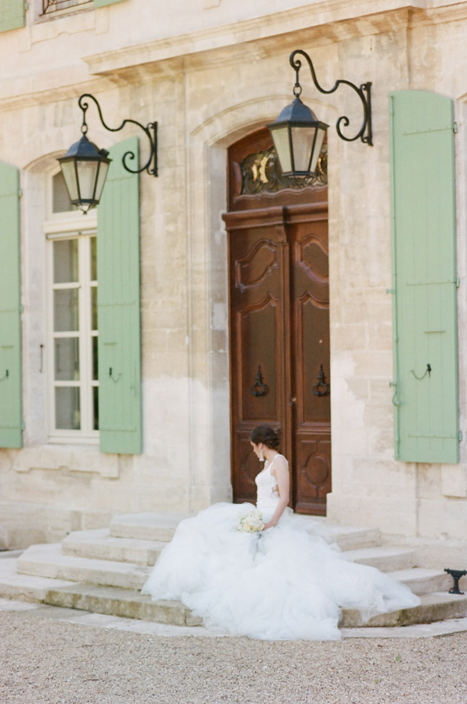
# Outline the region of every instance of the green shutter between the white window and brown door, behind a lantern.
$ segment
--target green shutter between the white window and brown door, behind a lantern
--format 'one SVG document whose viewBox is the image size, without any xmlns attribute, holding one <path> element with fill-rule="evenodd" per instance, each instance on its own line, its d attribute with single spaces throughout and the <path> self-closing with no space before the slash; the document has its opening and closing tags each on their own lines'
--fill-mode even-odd
<svg viewBox="0 0 467 704">
<path fill-rule="evenodd" d="M 123 168 L 136 137 L 116 144 L 97 215 L 101 451 L 142 452 L 139 177 Z M 130 163 L 136 168 L 137 159 Z"/>
</svg>

